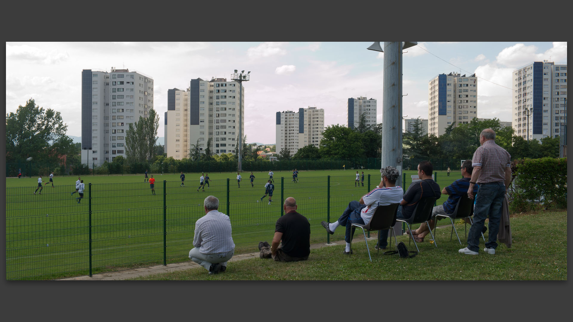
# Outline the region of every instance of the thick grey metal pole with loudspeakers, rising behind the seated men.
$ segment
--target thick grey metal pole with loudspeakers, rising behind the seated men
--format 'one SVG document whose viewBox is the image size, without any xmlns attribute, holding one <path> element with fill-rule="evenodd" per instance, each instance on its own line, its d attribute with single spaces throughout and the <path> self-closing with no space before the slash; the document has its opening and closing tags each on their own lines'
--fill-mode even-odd
<svg viewBox="0 0 573 322">
<path fill-rule="evenodd" d="M 382 100 L 382 163 L 380 168 L 396 167 L 402 174 L 402 50 L 417 45 L 415 41 L 386 41 L 384 49 L 374 42 L 367 49 L 384 53 Z M 402 185 L 402 176 L 396 181 Z"/>
</svg>

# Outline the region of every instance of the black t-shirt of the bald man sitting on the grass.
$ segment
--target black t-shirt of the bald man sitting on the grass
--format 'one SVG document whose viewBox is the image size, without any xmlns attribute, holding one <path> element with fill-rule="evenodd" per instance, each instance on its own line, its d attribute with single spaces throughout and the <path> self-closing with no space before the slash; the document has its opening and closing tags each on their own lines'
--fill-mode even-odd
<svg viewBox="0 0 573 322">
<path fill-rule="evenodd" d="M 305 257 L 311 253 L 311 224 L 307 217 L 291 211 L 278 218 L 274 231 L 282 233 L 282 250 L 291 257 Z"/>
</svg>

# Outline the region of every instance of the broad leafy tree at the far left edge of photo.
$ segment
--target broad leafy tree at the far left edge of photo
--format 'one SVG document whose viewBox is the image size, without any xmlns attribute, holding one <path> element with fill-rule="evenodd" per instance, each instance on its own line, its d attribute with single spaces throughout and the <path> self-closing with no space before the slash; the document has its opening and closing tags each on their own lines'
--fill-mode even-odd
<svg viewBox="0 0 573 322">
<path fill-rule="evenodd" d="M 32 156 L 45 163 L 59 163 L 59 156 L 77 151 L 66 135 L 67 129 L 60 112 L 41 108 L 34 99 L 29 99 L 15 113 L 6 114 L 6 158 Z"/>
</svg>

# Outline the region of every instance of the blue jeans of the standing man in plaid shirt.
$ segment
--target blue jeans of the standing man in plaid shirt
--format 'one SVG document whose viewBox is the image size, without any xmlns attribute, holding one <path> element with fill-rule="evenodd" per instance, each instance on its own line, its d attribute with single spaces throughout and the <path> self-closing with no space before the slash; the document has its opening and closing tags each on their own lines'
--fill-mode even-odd
<svg viewBox="0 0 573 322">
<path fill-rule="evenodd" d="M 464 197 L 462 197 L 464 198 Z M 473 208 L 473 225 L 468 233 L 468 249 L 478 252 L 480 235 L 485 218 L 489 217 L 489 237 L 486 248 L 497 248 L 497 233 L 500 230 L 501 206 L 505 198 L 505 183 L 492 182 L 480 184 L 476 195 L 476 205 Z"/>
</svg>

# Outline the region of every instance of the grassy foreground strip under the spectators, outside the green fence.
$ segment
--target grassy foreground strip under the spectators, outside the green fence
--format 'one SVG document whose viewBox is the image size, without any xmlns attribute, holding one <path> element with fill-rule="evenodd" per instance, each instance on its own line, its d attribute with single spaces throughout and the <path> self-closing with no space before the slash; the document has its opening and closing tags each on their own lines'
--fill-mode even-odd
<svg viewBox="0 0 573 322">
<path fill-rule="evenodd" d="M 444 219 L 439 225 L 444 225 Z M 425 241 L 414 258 L 383 255 L 356 231 L 350 257 L 344 246 L 311 250 L 307 261 L 275 262 L 253 258 L 230 262 L 225 273 L 209 275 L 203 268 L 154 274 L 132 280 L 567 280 L 567 211 L 540 211 L 511 218 L 512 248 L 500 244 L 496 254 L 458 253 L 460 244 L 449 241 L 450 228 L 437 229 L 438 248 Z M 456 225 L 464 243 L 464 225 Z M 428 236 L 430 237 L 430 236 Z M 362 239 L 362 242 L 360 242 Z M 427 239 L 427 238 L 426 238 Z M 486 236 L 487 239 L 487 236 Z M 408 246 L 406 236 L 398 236 Z M 480 249 L 484 247 L 480 238 Z M 464 246 L 465 247 L 465 244 Z M 415 250 L 414 244 L 409 250 Z"/>
</svg>

